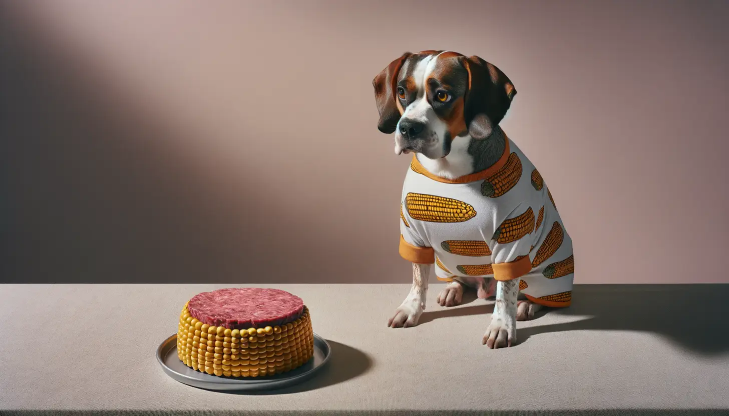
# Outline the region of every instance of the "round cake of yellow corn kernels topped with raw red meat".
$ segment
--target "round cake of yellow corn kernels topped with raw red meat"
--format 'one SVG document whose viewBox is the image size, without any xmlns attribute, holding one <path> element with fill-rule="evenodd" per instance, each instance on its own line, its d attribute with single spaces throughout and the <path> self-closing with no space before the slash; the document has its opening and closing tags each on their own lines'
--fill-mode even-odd
<svg viewBox="0 0 729 416">
<path fill-rule="evenodd" d="M 289 372 L 313 357 L 308 307 L 278 289 L 197 294 L 180 313 L 177 356 L 192 369 L 221 377 Z"/>
</svg>

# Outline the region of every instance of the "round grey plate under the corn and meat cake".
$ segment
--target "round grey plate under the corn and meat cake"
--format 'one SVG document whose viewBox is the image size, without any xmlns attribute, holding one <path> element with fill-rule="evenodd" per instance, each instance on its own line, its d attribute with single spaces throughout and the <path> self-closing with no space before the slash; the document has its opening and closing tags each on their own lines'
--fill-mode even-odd
<svg viewBox="0 0 729 416">
<path fill-rule="evenodd" d="M 198 372 L 186 366 L 177 356 L 177 334 L 164 340 L 157 348 L 157 361 L 165 373 L 175 380 L 197 388 L 215 391 L 268 391 L 296 385 L 309 380 L 324 364 L 327 364 L 332 349 L 324 338 L 314 335 L 314 355 L 302 366 L 289 372 L 270 377 L 241 379 L 220 377 Z"/>
</svg>

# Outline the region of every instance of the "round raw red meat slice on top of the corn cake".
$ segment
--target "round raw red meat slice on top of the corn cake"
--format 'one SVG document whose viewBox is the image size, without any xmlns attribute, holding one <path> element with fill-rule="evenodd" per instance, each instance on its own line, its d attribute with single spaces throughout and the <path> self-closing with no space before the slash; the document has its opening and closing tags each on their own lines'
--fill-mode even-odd
<svg viewBox="0 0 729 416">
<path fill-rule="evenodd" d="M 208 325 L 249 329 L 296 321 L 304 302 L 278 289 L 232 288 L 197 294 L 187 309 L 192 318 Z"/>
</svg>

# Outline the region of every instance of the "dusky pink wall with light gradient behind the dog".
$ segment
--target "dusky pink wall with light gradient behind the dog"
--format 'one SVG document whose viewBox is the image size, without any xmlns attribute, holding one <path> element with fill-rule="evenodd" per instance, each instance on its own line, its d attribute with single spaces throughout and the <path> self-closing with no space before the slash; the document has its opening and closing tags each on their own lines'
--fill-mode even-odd
<svg viewBox="0 0 729 416">
<path fill-rule="evenodd" d="M 727 1 L 3 1 L 1 280 L 410 281 L 372 79 L 499 66 L 576 283 L 729 283 Z"/>
</svg>

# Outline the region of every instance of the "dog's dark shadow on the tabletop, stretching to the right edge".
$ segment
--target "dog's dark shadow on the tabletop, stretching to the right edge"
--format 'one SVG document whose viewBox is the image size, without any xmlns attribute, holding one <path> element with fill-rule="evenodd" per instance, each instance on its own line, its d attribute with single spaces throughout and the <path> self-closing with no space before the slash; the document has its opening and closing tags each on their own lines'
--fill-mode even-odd
<svg viewBox="0 0 729 416">
<path fill-rule="evenodd" d="M 519 343 L 538 334 L 576 330 L 648 331 L 671 340 L 681 348 L 705 356 L 729 351 L 729 315 L 726 313 L 729 285 L 575 285 L 572 305 L 564 309 L 545 308 L 543 315 L 580 316 L 576 321 L 534 325 L 518 329 Z M 462 304 L 474 302 L 467 291 Z M 493 303 L 426 310 L 421 323 L 440 318 L 483 315 L 494 311 Z"/>
</svg>

